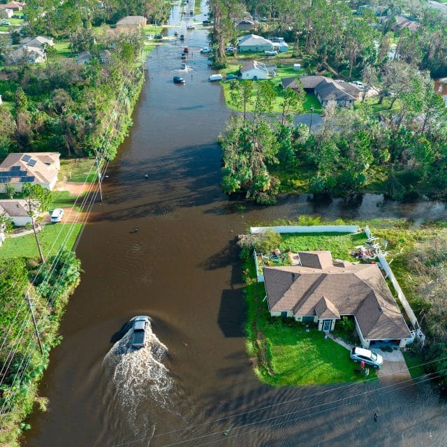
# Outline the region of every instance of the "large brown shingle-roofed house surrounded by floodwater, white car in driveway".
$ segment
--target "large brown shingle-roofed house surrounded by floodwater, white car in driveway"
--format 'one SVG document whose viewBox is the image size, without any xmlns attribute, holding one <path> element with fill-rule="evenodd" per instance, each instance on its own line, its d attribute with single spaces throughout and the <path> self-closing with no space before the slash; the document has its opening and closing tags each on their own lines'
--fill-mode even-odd
<svg viewBox="0 0 447 447">
<path fill-rule="evenodd" d="M 271 316 L 316 323 L 330 332 L 352 316 L 364 348 L 376 342 L 400 347 L 411 339 L 379 265 L 333 261 L 330 251 L 302 251 L 300 265 L 263 268 Z"/>
</svg>

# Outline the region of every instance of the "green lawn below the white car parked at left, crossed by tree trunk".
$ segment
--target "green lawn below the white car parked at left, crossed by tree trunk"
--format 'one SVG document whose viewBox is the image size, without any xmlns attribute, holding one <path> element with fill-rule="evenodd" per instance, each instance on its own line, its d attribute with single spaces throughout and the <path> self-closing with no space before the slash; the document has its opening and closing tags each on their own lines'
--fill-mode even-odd
<svg viewBox="0 0 447 447">
<path fill-rule="evenodd" d="M 71 249 L 82 225 L 80 223 L 48 224 L 38 233 L 43 256 L 56 254 L 61 244 Z M 60 234 L 59 234 L 60 232 Z M 54 241 L 56 243 L 54 244 Z M 53 246 L 54 244 L 54 246 Z M 38 258 L 36 239 L 33 234 L 22 237 L 8 237 L 0 247 L 0 258 Z"/>
</svg>

